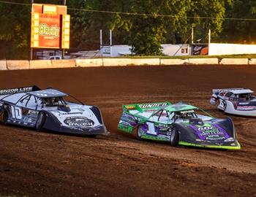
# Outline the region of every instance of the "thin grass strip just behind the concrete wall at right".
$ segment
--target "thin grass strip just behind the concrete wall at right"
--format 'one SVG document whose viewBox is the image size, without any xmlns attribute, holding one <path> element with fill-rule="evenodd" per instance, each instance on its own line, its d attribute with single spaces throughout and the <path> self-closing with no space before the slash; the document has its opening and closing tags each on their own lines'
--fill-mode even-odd
<svg viewBox="0 0 256 197">
<path fill-rule="evenodd" d="M 110 57 L 104 57 L 110 58 Z M 167 56 L 167 55 L 159 55 L 159 56 L 139 56 L 139 55 L 124 55 L 116 58 L 161 58 L 161 59 L 187 59 L 187 58 L 256 58 L 256 54 L 241 54 L 241 55 L 184 55 L 184 56 Z"/>
</svg>

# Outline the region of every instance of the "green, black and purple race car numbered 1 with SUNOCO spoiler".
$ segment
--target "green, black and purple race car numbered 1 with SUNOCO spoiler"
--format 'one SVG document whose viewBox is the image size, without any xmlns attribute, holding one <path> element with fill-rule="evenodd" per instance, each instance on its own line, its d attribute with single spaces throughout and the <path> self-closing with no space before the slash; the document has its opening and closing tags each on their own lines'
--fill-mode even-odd
<svg viewBox="0 0 256 197">
<path fill-rule="evenodd" d="M 184 103 L 124 105 L 118 130 L 129 134 L 137 131 L 138 139 L 165 141 L 174 146 L 241 149 L 230 117 L 214 118 L 202 109 Z"/>
</svg>

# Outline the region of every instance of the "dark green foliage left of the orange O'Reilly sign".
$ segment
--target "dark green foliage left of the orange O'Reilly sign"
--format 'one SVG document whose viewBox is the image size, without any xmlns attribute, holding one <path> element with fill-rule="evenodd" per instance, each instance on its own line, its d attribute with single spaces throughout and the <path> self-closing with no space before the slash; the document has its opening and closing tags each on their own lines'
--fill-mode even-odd
<svg viewBox="0 0 256 197">
<path fill-rule="evenodd" d="M 27 3 L 28 1 L 22 1 Z M 0 4 L 0 58 L 26 58 L 29 51 L 29 6 Z"/>
</svg>

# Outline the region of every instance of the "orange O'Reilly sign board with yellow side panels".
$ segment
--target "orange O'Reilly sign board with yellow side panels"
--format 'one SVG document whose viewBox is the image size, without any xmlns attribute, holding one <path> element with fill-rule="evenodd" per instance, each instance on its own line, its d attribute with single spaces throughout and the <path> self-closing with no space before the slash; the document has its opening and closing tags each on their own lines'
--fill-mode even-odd
<svg viewBox="0 0 256 197">
<path fill-rule="evenodd" d="M 31 47 L 69 48 L 70 16 L 67 7 L 33 4 L 31 13 Z"/>
</svg>

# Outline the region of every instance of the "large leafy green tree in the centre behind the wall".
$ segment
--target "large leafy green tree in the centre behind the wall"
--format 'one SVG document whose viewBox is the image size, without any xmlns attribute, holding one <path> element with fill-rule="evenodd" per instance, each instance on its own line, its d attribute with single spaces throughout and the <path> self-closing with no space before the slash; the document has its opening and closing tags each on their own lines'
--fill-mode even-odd
<svg viewBox="0 0 256 197">
<path fill-rule="evenodd" d="M 122 39 L 132 45 L 132 51 L 138 55 L 160 55 L 162 43 L 188 42 L 193 23 L 196 24 L 196 36 L 203 37 L 202 41 L 208 39 L 209 28 L 212 29 L 212 36 L 217 36 L 222 31 L 225 2 L 230 3 L 230 0 L 119 0 L 114 4 L 113 1 L 100 0 L 87 2 L 91 2 L 91 9 L 135 13 L 105 14 L 102 18 L 95 13 L 91 17 L 92 20 L 97 18 L 98 22 L 104 21 L 103 27 L 122 33 Z M 144 13 L 146 15 L 141 15 Z M 191 16 L 195 18 L 189 18 Z"/>
</svg>

